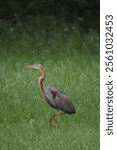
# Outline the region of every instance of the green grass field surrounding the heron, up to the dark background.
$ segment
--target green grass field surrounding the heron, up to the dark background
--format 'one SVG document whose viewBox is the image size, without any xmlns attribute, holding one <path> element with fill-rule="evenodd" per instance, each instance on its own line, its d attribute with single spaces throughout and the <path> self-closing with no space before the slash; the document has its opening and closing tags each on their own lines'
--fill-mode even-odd
<svg viewBox="0 0 117 150">
<path fill-rule="evenodd" d="M 99 34 L 51 17 L 0 28 L 0 149 L 99 150 Z M 56 111 L 40 94 L 40 73 L 23 68 L 34 63 L 46 68 L 45 84 L 67 93 L 76 108 L 62 116 L 60 129 L 49 127 Z"/>
</svg>

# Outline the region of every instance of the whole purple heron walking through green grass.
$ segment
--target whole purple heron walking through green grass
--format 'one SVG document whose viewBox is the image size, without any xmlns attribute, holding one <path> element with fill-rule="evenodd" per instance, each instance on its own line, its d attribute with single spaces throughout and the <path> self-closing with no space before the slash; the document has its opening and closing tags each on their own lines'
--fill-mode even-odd
<svg viewBox="0 0 117 150">
<path fill-rule="evenodd" d="M 63 114 L 75 114 L 76 110 L 71 102 L 70 98 L 61 92 L 58 88 L 48 87 L 44 85 L 44 80 L 46 78 L 46 70 L 41 64 L 34 64 L 24 66 L 24 68 L 33 68 L 35 70 L 41 71 L 41 76 L 38 79 L 38 86 L 41 90 L 42 96 L 45 97 L 47 103 L 54 109 L 58 110 L 58 113 L 52 115 L 49 119 L 50 126 L 52 126 L 55 117 L 58 116 L 58 128 L 60 127 L 60 117 Z"/>
</svg>

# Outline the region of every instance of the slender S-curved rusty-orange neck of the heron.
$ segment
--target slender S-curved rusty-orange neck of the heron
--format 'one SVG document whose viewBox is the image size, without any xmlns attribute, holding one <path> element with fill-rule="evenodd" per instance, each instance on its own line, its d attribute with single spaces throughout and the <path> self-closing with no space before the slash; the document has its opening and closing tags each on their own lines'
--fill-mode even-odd
<svg viewBox="0 0 117 150">
<path fill-rule="evenodd" d="M 42 75 L 41 75 L 41 77 L 38 80 L 38 85 L 39 85 L 39 88 L 41 89 L 42 95 L 45 97 L 45 87 L 44 87 L 43 81 L 45 79 L 46 72 L 45 72 L 44 68 L 41 68 L 40 71 L 41 71 Z"/>
</svg>

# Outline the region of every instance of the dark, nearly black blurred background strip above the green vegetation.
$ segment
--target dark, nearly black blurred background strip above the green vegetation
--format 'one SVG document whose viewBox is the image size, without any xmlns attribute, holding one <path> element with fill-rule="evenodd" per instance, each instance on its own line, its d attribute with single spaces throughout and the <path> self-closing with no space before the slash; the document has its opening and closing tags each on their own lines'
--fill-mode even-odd
<svg viewBox="0 0 117 150">
<path fill-rule="evenodd" d="M 61 22 L 83 21 L 91 28 L 97 23 L 99 28 L 99 8 L 99 0 L 0 0 L 0 20 L 15 24 L 25 17 L 46 15 Z"/>
</svg>

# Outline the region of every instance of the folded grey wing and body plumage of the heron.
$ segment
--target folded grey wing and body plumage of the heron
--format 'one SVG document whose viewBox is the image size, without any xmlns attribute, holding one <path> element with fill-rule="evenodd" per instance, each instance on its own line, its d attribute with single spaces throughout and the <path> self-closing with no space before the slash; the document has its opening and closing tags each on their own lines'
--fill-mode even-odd
<svg viewBox="0 0 117 150">
<path fill-rule="evenodd" d="M 56 88 L 46 89 L 46 100 L 55 109 L 60 109 L 69 114 L 75 113 L 75 108 L 69 97 Z"/>
</svg>

